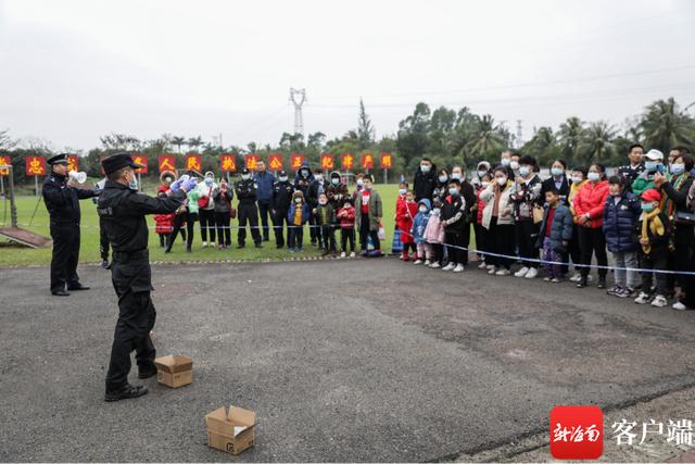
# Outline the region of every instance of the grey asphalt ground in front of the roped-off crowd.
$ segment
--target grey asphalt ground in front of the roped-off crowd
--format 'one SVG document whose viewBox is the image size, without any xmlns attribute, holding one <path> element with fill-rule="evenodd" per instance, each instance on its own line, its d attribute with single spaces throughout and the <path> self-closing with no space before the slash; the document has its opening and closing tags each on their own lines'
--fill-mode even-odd
<svg viewBox="0 0 695 464">
<path fill-rule="evenodd" d="M 437 461 L 695 385 L 695 312 L 569 283 L 395 259 L 153 266 L 159 354 L 193 384 L 105 403 L 116 298 L 50 297 L 47 267 L 0 269 L 0 461 Z M 134 372 L 135 374 L 135 372 Z M 138 383 L 132 378 L 132 383 Z M 204 415 L 256 411 L 256 444 L 208 449 Z"/>
</svg>

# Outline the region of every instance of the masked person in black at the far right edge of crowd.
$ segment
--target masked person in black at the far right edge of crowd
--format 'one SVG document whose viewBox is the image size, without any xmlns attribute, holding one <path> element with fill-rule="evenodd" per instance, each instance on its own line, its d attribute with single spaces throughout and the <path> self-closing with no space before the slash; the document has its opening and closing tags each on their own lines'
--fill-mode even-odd
<svg viewBox="0 0 695 464">
<path fill-rule="evenodd" d="M 670 256 L 672 267 L 679 272 L 695 271 L 692 253 L 695 243 L 695 222 L 687 205 L 688 192 L 695 185 L 691 174 L 693 165 L 693 156 L 678 153 L 670 165 L 669 177 L 658 173 L 654 176 L 654 186 L 664 193 L 661 211 L 666 213 L 673 228 L 674 252 L 670 253 Z M 684 274 L 677 274 L 674 277 L 673 284 L 681 288 L 681 298 L 673 304 L 673 309 L 695 309 L 695 278 Z"/>
</svg>

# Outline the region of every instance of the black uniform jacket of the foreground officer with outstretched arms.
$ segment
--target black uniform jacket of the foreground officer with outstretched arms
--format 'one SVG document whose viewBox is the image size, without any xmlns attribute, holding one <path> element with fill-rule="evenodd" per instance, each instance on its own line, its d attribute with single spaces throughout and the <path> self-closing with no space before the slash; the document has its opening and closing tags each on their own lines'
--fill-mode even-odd
<svg viewBox="0 0 695 464">
<path fill-rule="evenodd" d="M 153 198 L 109 180 L 97 212 L 113 251 L 129 253 L 148 248 L 146 214 L 170 214 L 185 202 L 186 193 L 180 190 L 172 198 Z"/>
</svg>

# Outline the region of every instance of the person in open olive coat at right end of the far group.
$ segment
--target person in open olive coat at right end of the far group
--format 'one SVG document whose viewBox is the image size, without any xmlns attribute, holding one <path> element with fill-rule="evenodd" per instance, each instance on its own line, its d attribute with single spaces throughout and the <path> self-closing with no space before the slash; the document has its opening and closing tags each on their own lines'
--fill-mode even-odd
<svg viewBox="0 0 695 464">
<path fill-rule="evenodd" d="M 383 210 L 381 196 L 374 189 L 374 178 L 370 174 L 363 177 L 363 188 L 356 197 L 355 201 L 355 225 L 359 230 L 359 247 L 363 256 L 383 256 L 381 252 L 381 242 L 379 241 L 379 227 Z M 374 250 L 367 249 L 367 242 L 371 240 Z"/>
</svg>

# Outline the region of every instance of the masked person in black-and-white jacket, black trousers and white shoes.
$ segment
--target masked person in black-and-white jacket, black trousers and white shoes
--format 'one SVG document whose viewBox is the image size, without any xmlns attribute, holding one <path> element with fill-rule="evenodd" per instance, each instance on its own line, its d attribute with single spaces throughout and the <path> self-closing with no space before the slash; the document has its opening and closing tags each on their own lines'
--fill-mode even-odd
<svg viewBox="0 0 695 464">
<path fill-rule="evenodd" d="M 514 231 L 519 249 L 521 268 L 516 277 L 535 278 L 539 274 L 539 249 L 535 247 L 539 237 L 539 224 L 533 216 L 533 209 L 545 199 L 541 199 L 541 178 L 534 173 L 535 159 L 525 155 L 519 160 L 519 175 L 511 187 L 514 205 Z"/>
</svg>

